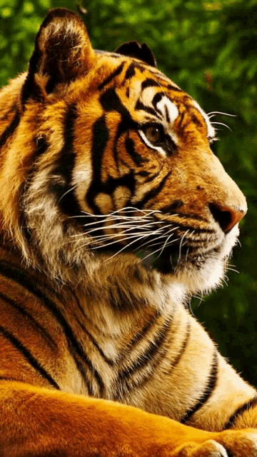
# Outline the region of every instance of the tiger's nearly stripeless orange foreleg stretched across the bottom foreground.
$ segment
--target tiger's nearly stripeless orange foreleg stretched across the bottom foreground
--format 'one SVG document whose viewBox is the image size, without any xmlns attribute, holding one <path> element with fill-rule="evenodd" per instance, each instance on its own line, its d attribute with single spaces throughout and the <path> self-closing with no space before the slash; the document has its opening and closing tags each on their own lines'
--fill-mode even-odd
<svg viewBox="0 0 257 457">
<path fill-rule="evenodd" d="M 0 386 L 2 457 L 249 457 L 257 431 L 201 431 L 112 401 Z"/>
</svg>

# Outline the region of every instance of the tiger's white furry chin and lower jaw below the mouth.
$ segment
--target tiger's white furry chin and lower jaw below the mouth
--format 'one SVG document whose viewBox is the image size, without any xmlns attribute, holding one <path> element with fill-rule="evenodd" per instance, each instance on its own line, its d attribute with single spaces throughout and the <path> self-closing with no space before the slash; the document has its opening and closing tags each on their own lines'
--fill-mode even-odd
<svg viewBox="0 0 257 457">
<path fill-rule="evenodd" d="M 183 246 L 173 251 L 163 250 L 160 256 L 146 253 L 141 264 L 147 269 L 155 269 L 171 282 L 181 283 L 188 293 L 209 293 L 221 286 L 226 273 L 232 248 L 238 240 L 238 226 L 235 226 L 221 243 L 201 249 Z"/>
</svg>

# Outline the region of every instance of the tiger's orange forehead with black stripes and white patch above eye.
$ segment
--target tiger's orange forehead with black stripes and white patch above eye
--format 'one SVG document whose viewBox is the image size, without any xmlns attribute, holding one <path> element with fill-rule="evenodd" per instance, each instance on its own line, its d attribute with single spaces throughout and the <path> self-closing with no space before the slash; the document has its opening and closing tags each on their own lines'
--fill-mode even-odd
<svg viewBox="0 0 257 457">
<path fill-rule="evenodd" d="M 197 123 L 206 126 L 207 136 L 215 137 L 215 130 L 201 106 L 177 84 L 155 67 L 120 54 L 97 51 L 105 77 L 99 89 L 113 86 L 119 93 L 124 91 L 132 106 L 141 106 L 157 117 L 159 121 L 173 124 L 183 111 L 197 114 Z M 193 116 L 193 119 L 196 119 Z"/>
</svg>

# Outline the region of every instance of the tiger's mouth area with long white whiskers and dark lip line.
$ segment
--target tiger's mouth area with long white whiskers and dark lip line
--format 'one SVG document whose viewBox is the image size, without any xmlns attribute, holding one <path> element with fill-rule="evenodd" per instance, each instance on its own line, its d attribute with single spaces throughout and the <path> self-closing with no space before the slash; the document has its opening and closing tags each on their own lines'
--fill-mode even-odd
<svg viewBox="0 0 257 457">
<path fill-rule="evenodd" d="M 223 263 L 238 235 L 238 231 L 225 235 L 207 221 L 203 227 L 201 221 L 186 225 L 183 219 L 174 220 L 161 211 L 133 207 L 108 216 L 89 216 L 90 222 L 84 225 L 84 233 L 91 236 L 89 251 L 104 253 L 107 260 L 133 253 L 147 270 L 175 276 L 189 270 L 197 274 L 206 263 Z"/>
</svg>

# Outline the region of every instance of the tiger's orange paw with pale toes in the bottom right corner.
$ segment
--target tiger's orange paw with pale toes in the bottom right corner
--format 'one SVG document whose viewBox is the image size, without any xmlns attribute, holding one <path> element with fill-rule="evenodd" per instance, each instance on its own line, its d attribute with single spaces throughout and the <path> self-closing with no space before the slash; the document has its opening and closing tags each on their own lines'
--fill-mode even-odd
<svg viewBox="0 0 257 457">
<path fill-rule="evenodd" d="M 217 433 L 200 445 L 186 443 L 171 457 L 257 457 L 257 429 Z"/>
</svg>

